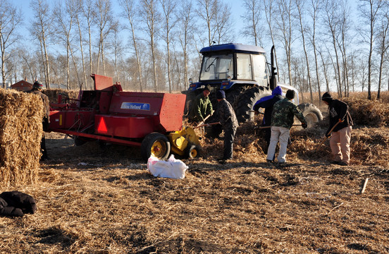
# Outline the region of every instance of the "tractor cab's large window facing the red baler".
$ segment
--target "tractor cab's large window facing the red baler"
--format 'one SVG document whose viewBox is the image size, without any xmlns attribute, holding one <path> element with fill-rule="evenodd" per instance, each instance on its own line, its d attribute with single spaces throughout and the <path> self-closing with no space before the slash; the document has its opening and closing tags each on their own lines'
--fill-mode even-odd
<svg viewBox="0 0 389 254">
<path fill-rule="evenodd" d="M 204 56 L 200 80 L 226 80 L 233 77 L 233 54 Z"/>
</svg>

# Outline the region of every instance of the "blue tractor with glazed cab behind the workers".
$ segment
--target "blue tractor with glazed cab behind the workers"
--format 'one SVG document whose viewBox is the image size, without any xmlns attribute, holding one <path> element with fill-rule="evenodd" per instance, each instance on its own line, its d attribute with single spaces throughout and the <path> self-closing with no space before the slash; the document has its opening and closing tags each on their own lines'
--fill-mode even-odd
<svg viewBox="0 0 389 254">
<path fill-rule="evenodd" d="M 237 120 L 240 122 L 253 119 L 252 110 L 255 102 L 261 97 L 271 95 L 277 85 L 296 91 L 295 103 L 298 104 L 298 92 L 290 85 L 277 84 L 276 68 L 273 58 L 274 46 L 271 48 L 271 63 L 266 62 L 266 52 L 261 47 L 245 44 L 220 44 L 204 47 L 200 50 L 203 55 L 199 82 L 191 83 L 184 91 L 187 95 L 185 114 L 190 112 L 192 101 L 205 86 L 211 87 L 210 99 L 216 106 L 216 90 L 224 90 L 226 99 L 233 105 Z M 309 103 L 300 104 L 305 118 L 312 123 L 322 120 L 321 111 Z"/>
</svg>

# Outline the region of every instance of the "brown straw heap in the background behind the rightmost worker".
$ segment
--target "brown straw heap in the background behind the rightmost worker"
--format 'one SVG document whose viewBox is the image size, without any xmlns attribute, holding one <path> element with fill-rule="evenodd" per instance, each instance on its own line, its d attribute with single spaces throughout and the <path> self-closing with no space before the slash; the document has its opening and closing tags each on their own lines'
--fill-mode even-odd
<svg viewBox="0 0 389 254">
<path fill-rule="evenodd" d="M 389 104 L 369 99 L 343 98 L 350 107 L 352 120 L 356 125 L 389 126 Z"/>
</svg>

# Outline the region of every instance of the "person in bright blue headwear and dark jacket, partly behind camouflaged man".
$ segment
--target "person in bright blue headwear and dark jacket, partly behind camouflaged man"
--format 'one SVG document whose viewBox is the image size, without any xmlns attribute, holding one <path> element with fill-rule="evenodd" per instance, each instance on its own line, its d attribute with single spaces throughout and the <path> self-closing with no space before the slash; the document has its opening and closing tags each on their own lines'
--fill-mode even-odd
<svg viewBox="0 0 389 254">
<path fill-rule="evenodd" d="M 270 126 L 271 124 L 271 112 L 273 111 L 273 105 L 279 100 L 283 99 L 283 90 L 280 86 L 274 88 L 271 95 L 262 97 L 254 104 L 254 111 L 258 111 L 259 108 L 264 108 L 264 118 L 262 119 L 262 126 Z M 265 140 L 266 147 L 264 147 L 265 154 L 267 153 L 268 145 L 270 145 L 271 130 L 265 128 Z"/>
</svg>

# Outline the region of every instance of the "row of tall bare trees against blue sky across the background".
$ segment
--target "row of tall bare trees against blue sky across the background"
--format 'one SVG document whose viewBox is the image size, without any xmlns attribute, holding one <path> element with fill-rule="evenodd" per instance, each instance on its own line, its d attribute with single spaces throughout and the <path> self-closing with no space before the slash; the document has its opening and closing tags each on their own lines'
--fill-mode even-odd
<svg viewBox="0 0 389 254">
<path fill-rule="evenodd" d="M 31 0 L 23 10 L 1 0 L 3 86 L 92 89 L 96 73 L 125 90 L 182 91 L 199 75 L 202 47 L 244 38 L 276 46 L 279 80 L 309 92 L 305 100 L 389 90 L 389 1 L 359 0 L 354 10 L 347 0 L 240 1 L 242 16 L 223 0 Z"/>
</svg>

